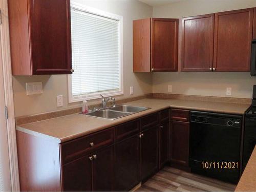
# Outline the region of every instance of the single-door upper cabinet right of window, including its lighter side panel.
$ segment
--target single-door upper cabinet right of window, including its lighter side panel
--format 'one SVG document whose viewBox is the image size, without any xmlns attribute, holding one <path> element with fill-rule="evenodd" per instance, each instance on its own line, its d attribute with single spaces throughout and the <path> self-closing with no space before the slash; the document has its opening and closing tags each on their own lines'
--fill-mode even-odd
<svg viewBox="0 0 256 192">
<path fill-rule="evenodd" d="M 178 70 L 178 19 L 133 21 L 133 71 Z"/>
</svg>

